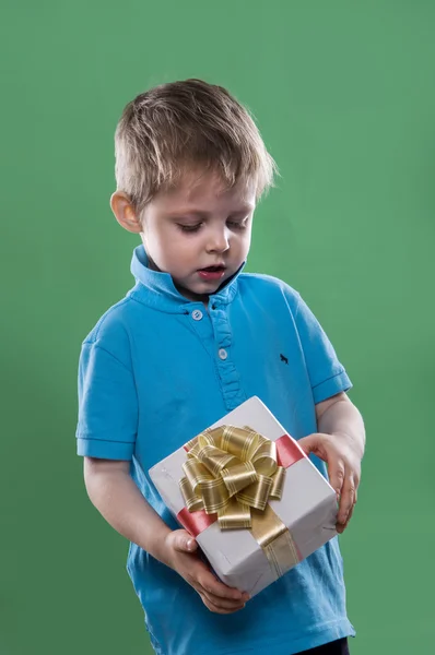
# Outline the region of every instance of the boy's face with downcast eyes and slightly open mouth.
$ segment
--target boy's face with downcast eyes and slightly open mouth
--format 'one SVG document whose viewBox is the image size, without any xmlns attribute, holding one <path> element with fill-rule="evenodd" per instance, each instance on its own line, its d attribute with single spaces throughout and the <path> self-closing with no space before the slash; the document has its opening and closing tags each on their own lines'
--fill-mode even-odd
<svg viewBox="0 0 435 655">
<path fill-rule="evenodd" d="M 150 267 L 171 273 L 186 298 L 207 302 L 247 258 L 255 205 L 255 180 L 225 190 L 216 174 L 186 175 L 142 213 Z"/>
</svg>

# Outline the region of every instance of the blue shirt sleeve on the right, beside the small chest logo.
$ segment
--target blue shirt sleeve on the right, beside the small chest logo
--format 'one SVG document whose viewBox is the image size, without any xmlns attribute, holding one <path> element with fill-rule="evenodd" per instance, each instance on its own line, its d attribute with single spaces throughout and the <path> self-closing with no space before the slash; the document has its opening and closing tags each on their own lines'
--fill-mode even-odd
<svg viewBox="0 0 435 655">
<path fill-rule="evenodd" d="M 320 323 L 297 294 L 295 322 L 304 352 L 305 362 L 311 383 L 315 404 L 352 389 L 344 367 L 338 360 L 336 350 Z"/>
</svg>

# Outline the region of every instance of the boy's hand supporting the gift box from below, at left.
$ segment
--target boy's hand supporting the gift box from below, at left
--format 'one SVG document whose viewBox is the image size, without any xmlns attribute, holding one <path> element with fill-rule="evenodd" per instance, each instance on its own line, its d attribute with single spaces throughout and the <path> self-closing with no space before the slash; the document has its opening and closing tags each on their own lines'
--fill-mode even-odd
<svg viewBox="0 0 435 655">
<path fill-rule="evenodd" d="M 198 555 L 198 544 L 186 529 L 175 529 L 165 539 L 168 564 L 201 596 L 210 611 L 233 614 L 245 607 L 249 594 L 216 580 Z"/>
</svg>

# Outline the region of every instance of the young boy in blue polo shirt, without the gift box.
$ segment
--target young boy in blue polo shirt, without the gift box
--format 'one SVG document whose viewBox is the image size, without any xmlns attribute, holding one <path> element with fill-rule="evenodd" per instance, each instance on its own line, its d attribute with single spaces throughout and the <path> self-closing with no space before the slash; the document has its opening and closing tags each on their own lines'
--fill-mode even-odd
<svg viewBox="0 0 435 655">
<path fill-rule="evenodd" d="M 148 471 L 252 395 L 352 515 L 364 426 L 352 384 L 297 291 L 243 273 L 274 162 L 247 110 L 200 80 L 127 105 L 111 209 L 140 235 L 134 287 L 82 345 L 78 452 L 91 501 L 130 541 L 128 571 L 160 655 L 348 653 L 337 537 L 249 599 L 220 582 Z M 239 611 L 242 610 L 242 611 Z"/>
</svg>

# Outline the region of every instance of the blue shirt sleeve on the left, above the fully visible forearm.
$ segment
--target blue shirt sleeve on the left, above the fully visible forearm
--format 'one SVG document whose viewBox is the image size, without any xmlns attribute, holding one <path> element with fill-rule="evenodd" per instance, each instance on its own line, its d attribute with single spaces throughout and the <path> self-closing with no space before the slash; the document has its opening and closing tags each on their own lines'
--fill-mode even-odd
<svg viewBox="0 0 435 655">
<path fill-rule="evenodd" d="M 85 342 L 79 361 L 78 454 L 131 460 L 137 428 L 132 371 L 106 348 Z"/>
</svg>

